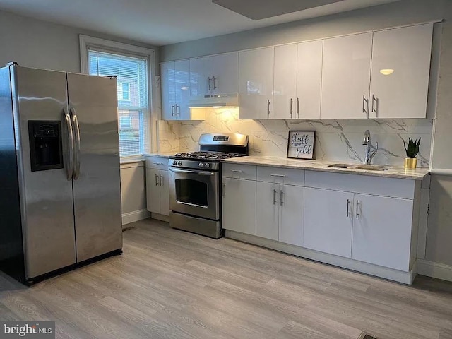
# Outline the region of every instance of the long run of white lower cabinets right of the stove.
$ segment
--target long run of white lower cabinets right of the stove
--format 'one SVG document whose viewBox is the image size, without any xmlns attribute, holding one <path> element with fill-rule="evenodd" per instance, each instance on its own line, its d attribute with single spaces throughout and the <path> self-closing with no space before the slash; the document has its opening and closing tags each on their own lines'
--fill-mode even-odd
<svg viewBox="0 0 452 339">
<path fill-rule="evenodd" d="M 283 243 L 250 240 L 261 246 L 307 251 L 314 260 L 411 283 L 420 182 L 238 164 L 225 164 L 223 176 L 226 230 Z"/>
</svg>

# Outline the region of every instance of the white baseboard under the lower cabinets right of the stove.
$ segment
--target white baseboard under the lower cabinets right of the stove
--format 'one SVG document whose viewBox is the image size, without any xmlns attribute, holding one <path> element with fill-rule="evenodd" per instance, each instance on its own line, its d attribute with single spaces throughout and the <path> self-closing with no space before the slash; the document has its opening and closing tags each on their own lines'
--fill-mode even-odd
<svg viewBox="0 0 452 339">
<path fill-rule="evenodd" d="M 254 235 L 234 232 L 230 230 L 226 230 L 226 237 L 240 240 L 242 242 L 248 242 L 249 244 L 267 247 L 268 249 L 275 249 L 276 251 L 293 254 L 295 256 L 301 256 L 302 258 L 308 258 L 314 261 L 319 261 L 321 263 L 328 263 L 333 266 L 347 268 L 349 270 L 355 270 L 357 272 L 362 272 L 369 275 L 375 275 L 376 277 L 397 281 L 398 283 L 411 285 L 416 276 L 417 268 L 415 265 L 413 265 L 410 272 L 403 272 L 402 270 L 394 270 L 393 268 L 386 268 L 371 263 L 364 263 L 362 261 L 357 261 L 350 258 L 343 258 L 341 256 L 335 256 L 333 254 L 314 251 L 312 249 L 305 249 L 304 247 L 284 244 L 275 240 L 264 239 L 261 237 L 256 237 Z"/>
</svg>

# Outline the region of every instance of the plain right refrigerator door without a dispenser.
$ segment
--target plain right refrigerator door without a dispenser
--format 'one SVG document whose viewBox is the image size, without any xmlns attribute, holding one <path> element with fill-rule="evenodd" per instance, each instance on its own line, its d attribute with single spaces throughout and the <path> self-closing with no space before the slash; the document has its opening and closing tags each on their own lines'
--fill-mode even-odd
<svg viewBox="0 0 452 339">
<path fill-rule="evenodd" d="M 115 78 L 68 73 L 76 140 L 73 197 L 77 262 L 122 247 Z"/>
</svg>

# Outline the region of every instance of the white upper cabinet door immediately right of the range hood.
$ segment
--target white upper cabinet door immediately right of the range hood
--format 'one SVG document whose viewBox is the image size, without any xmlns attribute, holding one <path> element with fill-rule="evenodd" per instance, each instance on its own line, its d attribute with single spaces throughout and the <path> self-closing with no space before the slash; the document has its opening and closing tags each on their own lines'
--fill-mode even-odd
<svg viewBox="0 0 452 339">
<path fill-rule="evenodd" d="M 239 52 L 239 119 L 272 116 L 274 51 L 268 47 Z"/>
</svg>

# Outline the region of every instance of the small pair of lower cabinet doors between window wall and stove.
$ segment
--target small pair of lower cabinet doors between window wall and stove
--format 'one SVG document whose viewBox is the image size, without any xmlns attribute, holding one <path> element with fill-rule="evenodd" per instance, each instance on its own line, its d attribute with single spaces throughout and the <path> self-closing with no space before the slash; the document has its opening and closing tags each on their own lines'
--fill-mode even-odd
<svg viewBox="0 0 452 339">
<path fill-rule="evenodd" d="M 168 171 L 146 169 L 146 197 L 148 211 L 169 215 Z"/>
</svg>

